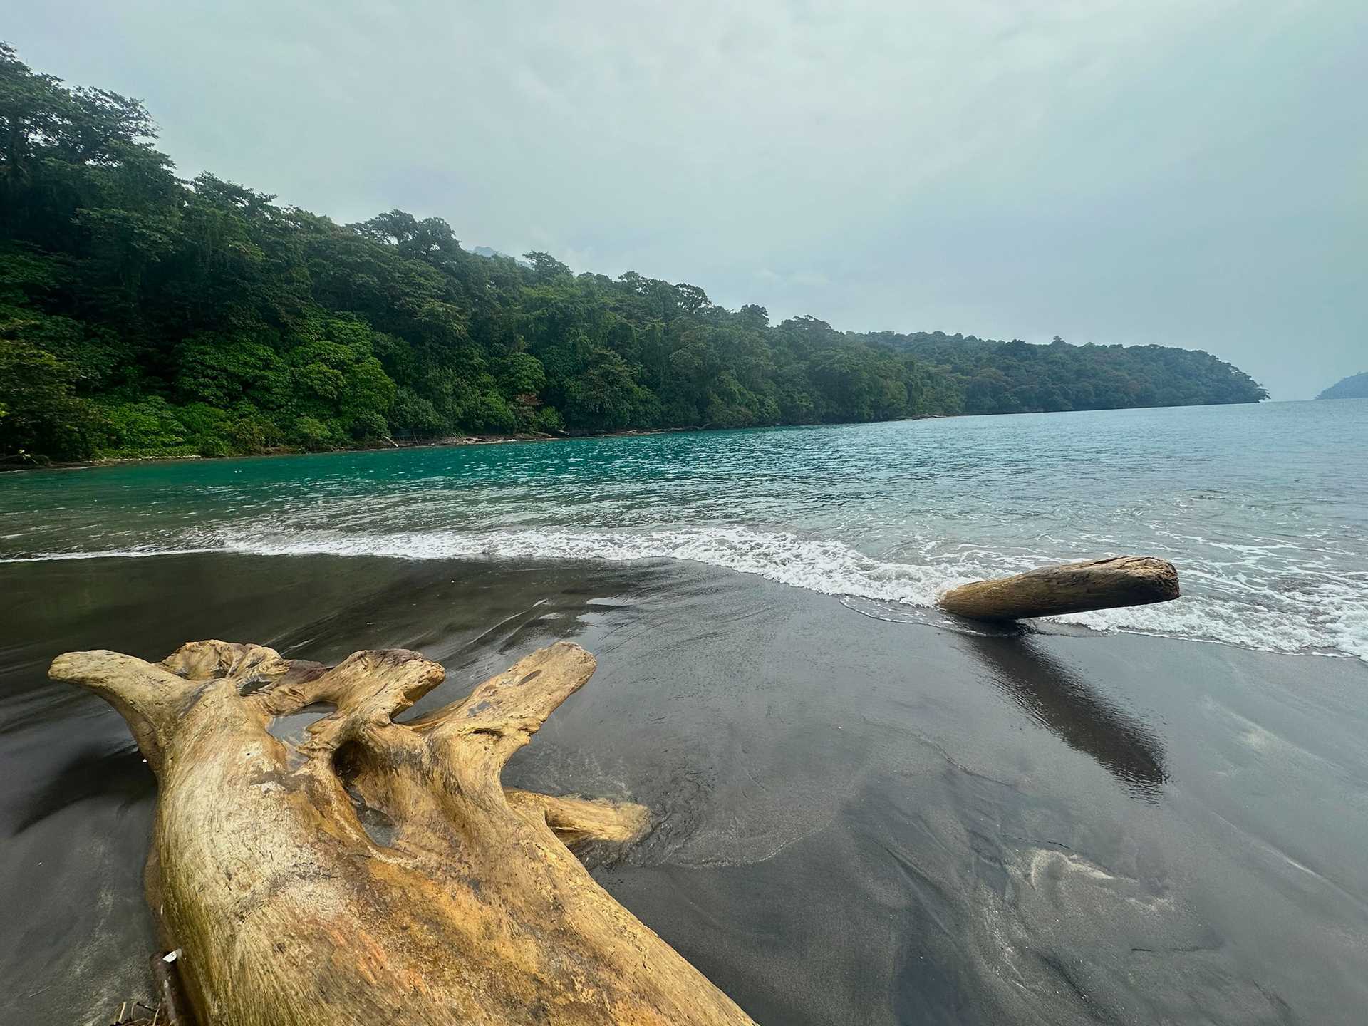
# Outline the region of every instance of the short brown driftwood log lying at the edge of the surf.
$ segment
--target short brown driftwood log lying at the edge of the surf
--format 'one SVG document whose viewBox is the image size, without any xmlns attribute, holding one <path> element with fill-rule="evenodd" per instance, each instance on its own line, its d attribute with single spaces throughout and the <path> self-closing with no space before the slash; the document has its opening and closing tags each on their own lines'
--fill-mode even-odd
<svg viewBox="0 0 1368 1026">
<path fill-rule="evenodd" d="M 1178 570 L 1152 555 L 1114 555 L 962 584 L 936 605 L 970 620 L 1025 620 L 1178 598 Z"/>
</svg>

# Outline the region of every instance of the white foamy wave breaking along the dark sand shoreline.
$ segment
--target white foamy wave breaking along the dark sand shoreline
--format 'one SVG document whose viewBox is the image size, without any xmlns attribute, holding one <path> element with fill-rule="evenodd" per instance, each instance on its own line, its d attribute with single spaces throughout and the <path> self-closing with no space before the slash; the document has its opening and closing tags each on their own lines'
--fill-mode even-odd
<svg viewBox="0 0 1368 1026">
<path fill-rule="evenodd" d="M 562 528 L 491 531 L 345 532 L 237 527 L 190 532 L 182 544 L 104 551 L 48 553 L 11 561 L 149 557 L 228 551 L 253 555 L 390 557 L 401 560 L 674 560 L 755 575 L 824 595 L 865 599 L 892 618 L 917 618 L 948 587 L 1031 565 L 988 551 L 964 551 L 922 562 L 888 561 L 833 539 L 751 527 L 683 527 L 658 531 Z M 1189 573 L 1192 570 L 1192 573 Z M 1213 588 L 1212 575 L 1183 564 L 1179 602 L 1053 617 L 1093 631 L 1124 631 L 1219 642 L 1276 653 L 1349 655 L 1368 661 L 1368 581 L 1354 575 L 1302 579 L 1295 588 L 1278 577 L 1238 591 Z M 1196 581 L 1197 587 L 1189 587 Z"/>
</svg>

